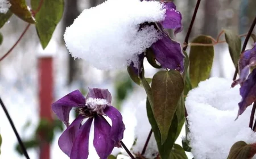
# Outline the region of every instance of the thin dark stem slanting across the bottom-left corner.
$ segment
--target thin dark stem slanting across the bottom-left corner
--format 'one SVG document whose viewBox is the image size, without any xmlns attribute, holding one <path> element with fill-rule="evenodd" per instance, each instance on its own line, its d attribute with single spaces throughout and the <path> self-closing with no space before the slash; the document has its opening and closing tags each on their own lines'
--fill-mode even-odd
<svg viewBox="0 0 256 159">
<path fill-rule="evenodd" d="M 24 156 L 25 156 L 27 159 L 30 159 L 30 157 L 28 156 L 26 147 L 24 147 L 24 144 L 23 144 L 22 140 L 21 140 L 20 137 L 19 137 L 19 133 L 17 132 L 17 130 L 16 130 L 15 126 L 14 126 L 13 120 L 11 120 L 11 116 L 9 115 L 9 112 L 8 112 L 7 109 L 6 109 L 5 104 L 3 104 L 3 101 L 2 101 L 2 99 L 1 99 L 1 97 L 0 97 L 0 104 L 1 104 L 1 106 L 2 106 L 2 108 L 3 108 L 3 111 L 5 111 L 5 114 L 6 114 L 8 120 L 9 120 L 9 122 L 10 122 L 10 124 L 11 124 L 11 128 L 13 128 L 13 131 L 14 131 L 14 133 L 15 133 L 15 135 L 16 135 L 18 141 L 19 141 L 19 145 L 20 145 L 20 148 L 21 148 L 22 151 L 23 151 Z"/>
</svg>

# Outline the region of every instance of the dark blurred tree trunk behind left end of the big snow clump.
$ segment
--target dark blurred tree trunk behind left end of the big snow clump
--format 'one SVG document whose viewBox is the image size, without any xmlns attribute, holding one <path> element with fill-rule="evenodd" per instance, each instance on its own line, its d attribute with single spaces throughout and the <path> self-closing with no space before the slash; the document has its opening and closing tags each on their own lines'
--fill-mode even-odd
<svg viewBox="0 0 256 159">
<path fill-rule="evenodd" d="M 71 26 L 74 19 L 79 16 L 80 12 L 77 8 L 77 0 L 65 0 L 65 11 L 63 15 L 63 34 L 66 30 L 66 27 Z M 68 83 L 70 84 L 72 81 L 74 81 L 78 74 L 78 63 L 74 60 L 73 57 L 69 56 L 68 58 Z"/>
</svg>

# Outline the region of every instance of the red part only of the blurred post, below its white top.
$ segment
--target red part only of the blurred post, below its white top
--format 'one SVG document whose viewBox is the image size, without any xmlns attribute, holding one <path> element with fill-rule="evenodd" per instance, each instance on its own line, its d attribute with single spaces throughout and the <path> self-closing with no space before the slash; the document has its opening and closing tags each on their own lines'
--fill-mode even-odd
<svg viewBox="0 0 256 159">
<path fill-rule="evenodd" d="M 52 56 L 39 56 L 39 103 L 40 119 L 47 119 L 52 123 L 51 103 L 53 101 L 53 69 Z M 43 137 L 43 136 L 42 136 Z M 42 142 L 40 145 L 40 159 L 49 159 L 50 145 Z"/>
</svg>

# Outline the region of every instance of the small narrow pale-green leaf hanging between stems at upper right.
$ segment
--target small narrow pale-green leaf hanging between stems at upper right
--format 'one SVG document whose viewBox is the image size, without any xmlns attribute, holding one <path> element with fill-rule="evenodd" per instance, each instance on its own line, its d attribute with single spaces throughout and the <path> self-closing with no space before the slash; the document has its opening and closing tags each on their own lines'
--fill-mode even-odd
<svg viewBox="0 0 256 159">
<path fill-rule="evenodd" d="M 241 39 L 234 31 L 224 30 L 226 43 L 229 45 L 229 53 L 235 66 L 238 64 L 241 53 Z"/>
</svg>

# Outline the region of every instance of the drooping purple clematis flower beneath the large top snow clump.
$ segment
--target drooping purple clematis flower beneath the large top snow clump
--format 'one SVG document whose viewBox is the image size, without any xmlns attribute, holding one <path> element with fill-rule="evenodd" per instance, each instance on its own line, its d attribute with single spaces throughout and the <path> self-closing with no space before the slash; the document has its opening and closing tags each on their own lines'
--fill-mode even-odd
<svg viewBox="0 0 256 159">
<path fill-rule="evenodd" d="M 164 9 L 166 9 L 166 15 L 162 22 L 158 22 L 160 27 L 159 33 L 162 38 L 151 45 L 152 51 L 155 55 L 155 60 L 159 62 L 162 68 L 175 69 L 180 73 L 184 71 L 184 58 L 185 55 L 181 50 L 181 45 L 176 41 L 172 40 L 166 31 L 163 29 L 173 29 L 174 34 L 182 30 L 181 19 L 182 16 L 179 11 L 176 10 L 176 6 L 173 2 L 163 2 Z M 143 58 L 137 58 L 139 61 L 135 63 L 139 64 Z M 136 66 L 131 64 L 130 66 L 137 69 Z M 140 70 L 140 69 L 137 69 Z M 135 72 L 139 74 L 140 72 Z"/>
</svg>

